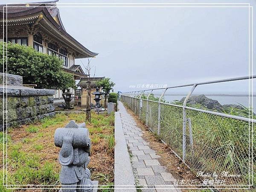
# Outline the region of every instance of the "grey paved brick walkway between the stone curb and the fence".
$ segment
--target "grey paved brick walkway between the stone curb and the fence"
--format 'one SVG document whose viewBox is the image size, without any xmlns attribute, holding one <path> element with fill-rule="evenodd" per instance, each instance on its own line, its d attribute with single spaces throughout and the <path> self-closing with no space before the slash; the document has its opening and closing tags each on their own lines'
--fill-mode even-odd
<svg viewBox="0 0 256 192">
<path fill-rule="evenodd" d="M 126 111 L 122 102 L 118 102 L 123 132 L 131 157 L 131 166 L 134 172 L 136 184 L 140 184 L 145 192 L 180 192 L 172 186 L 175 178 L 161 166 L 157 158 L 160 158 L 149 143 L 143 140 L 143 131 L 137 127 L 134 118 Z M 169 186 L 164 186 L 169 185 Z M 169 188 L 169 189 L 157 189 Z"/>
</svg>

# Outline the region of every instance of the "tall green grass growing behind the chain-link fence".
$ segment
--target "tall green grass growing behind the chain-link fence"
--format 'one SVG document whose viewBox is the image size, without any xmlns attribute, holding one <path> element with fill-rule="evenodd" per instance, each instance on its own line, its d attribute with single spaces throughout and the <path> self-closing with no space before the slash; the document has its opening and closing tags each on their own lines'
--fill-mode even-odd
<svg viewBox="0 0 256 192">
<path fill-rule="evenodd" d="M 151 100 L 157 101 L 157 98 Z M 157 133 L 158 103 L 149 101 L 148 104 L 148 126 Z M 183 105 L 179 101 L 174 101 L 172 104 Z M 188 104 L 188 106 L 209 111 L 199 104 Z M 182 157 L 183 109 L 165 104 L 160 104 L 160 109 L 160 138 Z M 145 103 L 141 110 L 141 118 L 145 119 Z M 251 109 L 245 107 L 242 110 L 223 108 L 222 111 L 217 112 L 244 117 L 249 117 L 249 113 L 252 114 Z M 249 156 L 249 145 L 256 146 L 255 134 L 251 138 L 253 143 L 248 141 L 252 123 L 249 125 L 245 121 L 190 109 L 186 109 L 186 118 L 192 122 L 193 139 L 192 146 L 187 123 L 186 164 L 195 172 L 217 172 L 220 174 L 223 171 L 228 171 L 230 174 L 241 174 L 239 178 L 228 178 L 226 184 L 248 184 L 249 162 L 252 157 L 254 157 L 253 167 L 256 167 L 256 152 L 253 151 L 253 154 Z M 253 114 L 253 118 L 255 119 L 255 114 Z M 253 177 L 253 180 L 256 182 L 256 176 Z"/>
</svg>

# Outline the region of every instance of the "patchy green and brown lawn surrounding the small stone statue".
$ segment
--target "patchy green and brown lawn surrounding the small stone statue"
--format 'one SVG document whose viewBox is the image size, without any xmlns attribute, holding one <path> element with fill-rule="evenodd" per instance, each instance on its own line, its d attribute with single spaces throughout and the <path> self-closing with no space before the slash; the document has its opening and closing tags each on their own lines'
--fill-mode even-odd
<svg viewBox="0 0 256 192">
<path fill-rule="evenodd" d="M 60 113 L 52 118 L 42 119 L 30 125 L 14 128 L 8 133 L 8 184 L 60 184 L 58 163 L 60 148 L 54 145 L 56 128 L 64 127 L 70 120 L 77 123 L 85 121 L 85 113 Z M 88 168 L 92 180 L 99 180 L 99 184 L 113 184 L 114 154 L 114 115 L 91 114 L 91 122 L 86 122 L 92 142 L 91 161 Z M 36 134 L 35 134 L 36 133 Z M 0 132 L 0 141 L 3 142 Z M 3 155 L 0 153 L 0 156 Z M 3 157 L 0 157 L 0 161 Z M 3 175 L 2 175 L 3 176 Z M 3 179 L 1 180 L 1 182 Z M 105 187 L 113 188 L 113 186 Z M 102 188 L 102 191 L 113 191 Z M 0 183 L 0 191 L 6 191 Z M 48 190 L 51 191 L 51 190 Z"/>
</svg>

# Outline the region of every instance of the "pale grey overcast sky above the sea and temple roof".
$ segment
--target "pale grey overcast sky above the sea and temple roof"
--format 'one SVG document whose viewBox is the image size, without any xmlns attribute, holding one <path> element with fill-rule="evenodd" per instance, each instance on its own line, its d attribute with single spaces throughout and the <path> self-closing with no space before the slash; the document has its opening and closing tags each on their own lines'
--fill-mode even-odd
<svg viewBox="0 0 256 192">
<path fill-rule="evenodd" d="M 255 0 L 243 3 L 256 5 Z M 91 51 L 99 52 L 91 65 L 96 66 L 96 76 L 109 77 L 116 83 L 116 91 L 140 90 L 137 87 L 143 84 L 175 86 L 248 76 L 248 8 L 59 9 L 67 32 Z M 79 59 L 76 64 L 82 66 Z M 248 83 L 223 83 L 202 89 L 247 91 Z"/>
</svg>

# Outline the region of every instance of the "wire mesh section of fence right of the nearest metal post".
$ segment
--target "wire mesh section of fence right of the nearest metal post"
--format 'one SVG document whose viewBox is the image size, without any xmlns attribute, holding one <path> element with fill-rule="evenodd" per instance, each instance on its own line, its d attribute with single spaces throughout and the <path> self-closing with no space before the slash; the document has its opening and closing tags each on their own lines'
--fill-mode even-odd
<svg viewBox="0 0 256 192">
<path fill-rule="evenodd" d="M 249 184 L 248 122 L 190 109 L 186 110 L 186 117 L 186 163 L 211 175 L 241 175 L 227 177 L 228 184 Z"/>
</svg>

